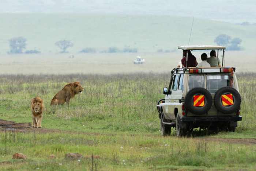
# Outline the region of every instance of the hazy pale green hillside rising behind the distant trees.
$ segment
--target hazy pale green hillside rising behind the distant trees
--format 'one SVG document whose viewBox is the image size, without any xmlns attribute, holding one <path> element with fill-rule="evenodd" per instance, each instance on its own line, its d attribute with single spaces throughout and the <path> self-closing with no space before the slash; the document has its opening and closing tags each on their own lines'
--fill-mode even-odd
<svg viewBox="0 0 256 171">
<path fill-rule="evenodd" d="M 0 53 L 9 51 L 12 37 L 27 38 L 27 49 L 42 53 L 57 53 L 54 43 L 61 39 L 74 42 L 69 51 L 76 53 L 85 47 L 106 50 L 110 46 L 138 48 L 139 52 L 176 49 L 187 44 L 192 18 L 143 15 L 87 15 L 1 13 Z M 245 50 L 254 50 L 256 26 L 241 26 L 195 18 L 190 44 L 214 44 L 219 34 L 241 38 Z"/>
</svg>

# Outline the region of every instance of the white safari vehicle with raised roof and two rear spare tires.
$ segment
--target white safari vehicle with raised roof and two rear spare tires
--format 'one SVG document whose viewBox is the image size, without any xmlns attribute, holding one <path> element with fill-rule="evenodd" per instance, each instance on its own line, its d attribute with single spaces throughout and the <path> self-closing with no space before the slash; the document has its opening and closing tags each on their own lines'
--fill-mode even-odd
<svg viewBox="0 0 256 171">
<path fill-rule="evenodd" d="M 236 68 L 223 66 L 225 47 L 178 46 L 178 48 L 183 52 L 217 50 L 217 58 L 221 51 L 222 66 L 182 67 L 171 71 L 169 87 L 163 88 L 165 98 L 159 100 L 157 104 L 162 135 L 170 135 L 171 128 L 174 127 L 177 136 L 188 135 L 194 128 L 216 132 L 235 131 L 237 121 L 242 120 L 241 97 Z"/>
</svg>

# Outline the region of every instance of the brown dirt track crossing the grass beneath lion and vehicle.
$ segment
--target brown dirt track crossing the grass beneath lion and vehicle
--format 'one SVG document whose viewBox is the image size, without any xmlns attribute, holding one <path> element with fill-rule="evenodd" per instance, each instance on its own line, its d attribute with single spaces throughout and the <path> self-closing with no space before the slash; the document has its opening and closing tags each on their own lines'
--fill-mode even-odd
<svg viewBox="0 0 256 171">
<path fill-rule="evenodd" d="M 62 131 L 59 129 L 47 129 L 47 128 L 32 128 L 32 125 L 30 123 L 15 123 L 13 121 L 6 121 L 0 119 L 0 131 L 15 131 L 15 132 L 36 132 L 36 133 L 78 133 L 78 134 L 84 134 L 84 135 L 100 135 L 100 134 L 109 134 L 113 135 L 111 133 L 94 133 L 94 132 L 76 132 L 76 131 Z M 206 138 L 193 138 L 196 140 L 205 140 L 205 141 L 221 141 L 223 143 L 232 143 L 232 144 L 246 144 L 246 145 L 253 145 L 256 144 L 256 138 L 247 138 L 247 139 L 235 139 L 235 138 L 212 138 L 212 137 L 206 137 Z"/>
</svg>

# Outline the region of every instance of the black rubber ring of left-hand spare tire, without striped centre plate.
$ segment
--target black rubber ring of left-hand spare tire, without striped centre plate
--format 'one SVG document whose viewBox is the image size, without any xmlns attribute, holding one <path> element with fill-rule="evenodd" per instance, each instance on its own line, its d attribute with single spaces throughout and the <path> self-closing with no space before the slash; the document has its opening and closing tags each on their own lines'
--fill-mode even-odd
<svg viewBox="0 0 256 171">
<path fill-rule="evenodd" d="M 193 105 L 193 96 L 195 95 L 204 95 L 204 106 L 196 107 Z M 211 106 L 212 106 L 211 93 L 204 88 L 193 88 L 187 93 L 185 97 L 184 105 L 186 109 L 193 114 L 204 114 L 211 109 Z"/>
</svg>

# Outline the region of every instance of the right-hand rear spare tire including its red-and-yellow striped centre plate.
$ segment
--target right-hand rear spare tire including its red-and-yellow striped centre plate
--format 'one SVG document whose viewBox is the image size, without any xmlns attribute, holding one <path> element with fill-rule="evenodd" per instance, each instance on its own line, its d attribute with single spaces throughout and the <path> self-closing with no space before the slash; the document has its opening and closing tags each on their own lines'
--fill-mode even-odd
<svg viewBox="0 0 256 171">
<path fill-rule="evenodd" d="M 240 109 L 241 96 L 236 89 L 223 87 L 215 93 L 214 105 L 221 113 L 234 113 Z"/>
</svg>

